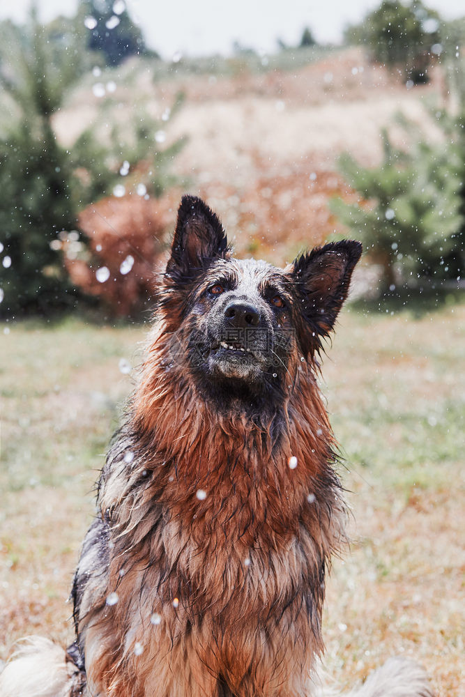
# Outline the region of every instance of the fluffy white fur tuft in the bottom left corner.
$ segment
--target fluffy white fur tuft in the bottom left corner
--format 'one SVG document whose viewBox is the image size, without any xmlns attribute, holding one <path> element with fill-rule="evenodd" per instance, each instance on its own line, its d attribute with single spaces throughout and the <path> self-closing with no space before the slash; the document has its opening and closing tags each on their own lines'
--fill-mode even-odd
<svg viewBox="0 0 465 697">
<path fill-rule="evenodd" d="M 41 636 L 28 636 L 16 645 L 0 675 L 0 697 L 69 697 L 73 679 L 65 652 Z"/>
</svg>

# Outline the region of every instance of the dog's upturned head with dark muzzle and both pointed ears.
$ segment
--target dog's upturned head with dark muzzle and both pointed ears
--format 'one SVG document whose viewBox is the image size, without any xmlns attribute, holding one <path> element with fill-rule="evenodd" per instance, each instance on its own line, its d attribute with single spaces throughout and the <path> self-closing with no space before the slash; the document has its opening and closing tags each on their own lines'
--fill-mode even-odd
<svg viewBox="0 0 465 697">
<path fill-rule="evenodd" d="M 159 293 L 171 359 L 223 404 L 228 395 L 274 399 L 332 330 L 361 251 L 330 243 L 284 269 L 234 259 L 215 213 L 183 197 Z"/>
</svg>

